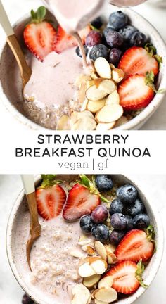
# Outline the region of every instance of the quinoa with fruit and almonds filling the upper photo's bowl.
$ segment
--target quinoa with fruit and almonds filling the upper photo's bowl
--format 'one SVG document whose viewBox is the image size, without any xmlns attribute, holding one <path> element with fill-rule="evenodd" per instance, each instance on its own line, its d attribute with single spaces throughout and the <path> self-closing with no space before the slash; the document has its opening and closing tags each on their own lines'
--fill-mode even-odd
<svg viewBox="0 0 166 304">
<path fill-rule="evenodd" d="M 32 68 L 24 101 L 8 48 L 1 64 L 8 99 L 30 120 L 48 129 L 109 130 L 132 120 L 162 93 L 155 89 L 162 58 L 122 11 L 111 13 L 107 24 L 96 18 L 79 31 L 84 62 L 75 36 L 46 16 L 44 6 L 32 11 L 21 34 Z"/>
</svg>

